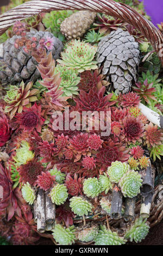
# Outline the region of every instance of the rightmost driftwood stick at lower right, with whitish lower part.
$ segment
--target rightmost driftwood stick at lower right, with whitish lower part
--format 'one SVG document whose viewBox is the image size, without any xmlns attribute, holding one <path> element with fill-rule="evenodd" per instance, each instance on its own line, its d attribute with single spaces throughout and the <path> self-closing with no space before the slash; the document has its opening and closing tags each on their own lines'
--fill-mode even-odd
<svg viewBox="0 0 163 256">
<path fill-rule="evenodd" d="M 141 208 L 140 208 L 140 216 L 143 218 L 148 218 L 151 210 L 153 192 L 148 193 L 147 197 L 142 197 L 141 199 Z"/>
</svg>

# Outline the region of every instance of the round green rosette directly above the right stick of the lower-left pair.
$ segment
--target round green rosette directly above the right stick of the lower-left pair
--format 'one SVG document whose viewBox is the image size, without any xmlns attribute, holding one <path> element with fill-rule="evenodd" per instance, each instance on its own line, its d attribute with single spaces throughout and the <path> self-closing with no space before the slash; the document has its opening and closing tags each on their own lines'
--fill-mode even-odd
<svg viewBox="0 0 163 256">
<path fill-rule="evenodd" d="M 53 204 L 64 204 L 68 197 L 66 186 L 63 184 L 55 185 L 51 190 L 50 196 Z"/>
</svg>

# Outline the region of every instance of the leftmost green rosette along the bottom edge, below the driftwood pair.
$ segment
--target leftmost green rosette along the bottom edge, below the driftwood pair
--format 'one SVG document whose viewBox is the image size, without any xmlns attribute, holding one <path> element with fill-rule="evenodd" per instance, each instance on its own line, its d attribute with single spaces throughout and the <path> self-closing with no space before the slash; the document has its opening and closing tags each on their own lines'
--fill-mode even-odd
<svg viewBox="0 0 163 256">
<path fill-rule="evenodd" d="M 64 228 L 60 224 L 55 224 L 55 228 L 52 231 L 52 235 L 59 245 L 72 245 L 72 243 L 74 243 L 74 239 L 76 237 L 74 234 L 75 228 L 73 225 L 68 228 Z"/>
</svg>

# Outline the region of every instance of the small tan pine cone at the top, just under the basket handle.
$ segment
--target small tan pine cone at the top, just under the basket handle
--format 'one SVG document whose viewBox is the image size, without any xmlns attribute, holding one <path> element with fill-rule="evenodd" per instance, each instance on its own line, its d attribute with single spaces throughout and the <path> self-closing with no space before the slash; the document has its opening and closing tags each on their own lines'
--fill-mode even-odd
<svg viewBox="0 0 163 256">
<path fill-rule="evenodd" d="M 66 18 L 60 26 L 62 34 L 69 39 L 79 39 L 95 20 L 96 13 L 91 11 L 78 11 Z"/>
</svg>

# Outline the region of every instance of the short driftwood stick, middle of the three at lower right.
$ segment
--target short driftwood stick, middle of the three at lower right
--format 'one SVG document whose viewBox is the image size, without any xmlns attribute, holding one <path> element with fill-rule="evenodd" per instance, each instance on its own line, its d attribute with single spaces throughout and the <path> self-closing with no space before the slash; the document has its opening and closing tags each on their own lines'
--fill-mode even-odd
<svg viewBox="0 0 163 256">
<path fill-rule="evenodd" d="M 135 197 L 125 199 L 124 220 L 133 221 L 135 218 Z"/>
</svg>

